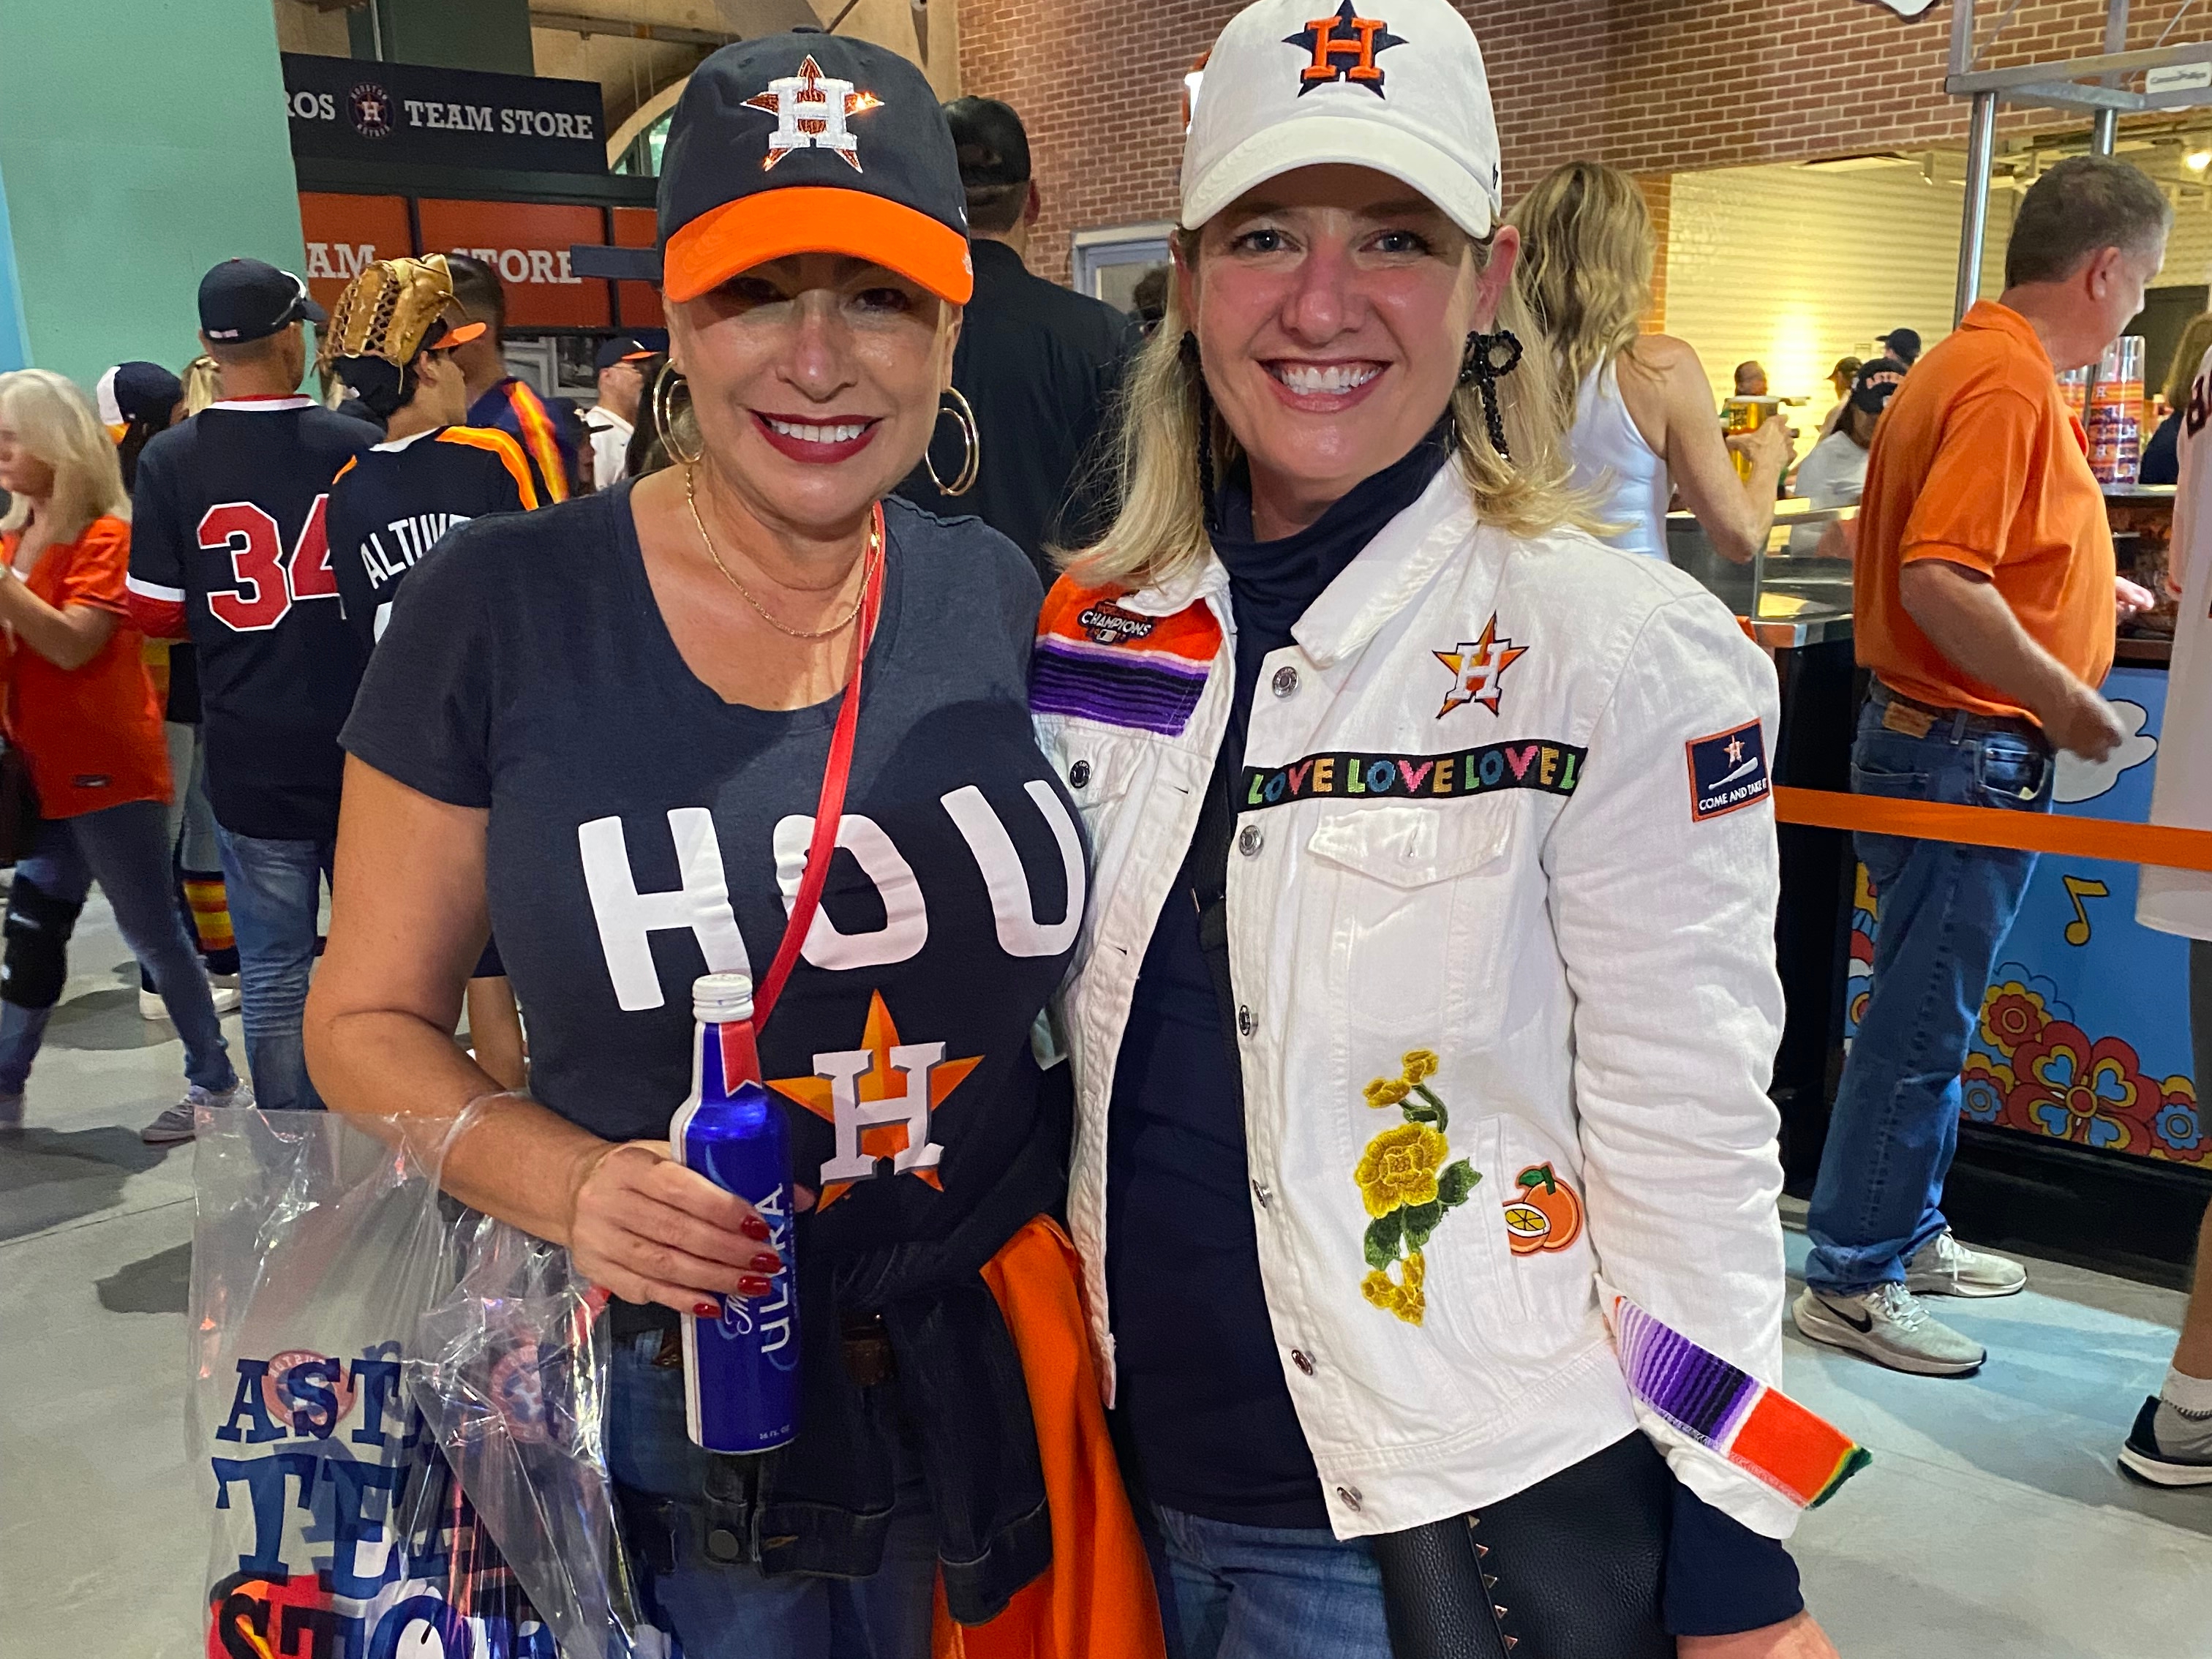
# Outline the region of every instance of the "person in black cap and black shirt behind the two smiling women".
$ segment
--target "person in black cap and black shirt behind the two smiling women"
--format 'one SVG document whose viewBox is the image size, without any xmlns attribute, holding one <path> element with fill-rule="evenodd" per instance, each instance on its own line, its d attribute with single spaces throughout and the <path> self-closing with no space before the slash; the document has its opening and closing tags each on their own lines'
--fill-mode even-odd
<svg viewBox="0 0 2212 1659">
<path fill-rule="evenodd" d="M 1022 117 L 993 97 L 956 100 L 945 117 L 960 150 L 975 259 L 953 389 L 973 411 L 982 465 L 969 489 L 940 487 L 958 484 L 956 462 L 967 460 L 956 422 L 947 422 L 898 493 L 931 513 L 975 513 L 1051 582 L 1048 546 L 1099 529 L 1086 462 L 1137 332 L 1113 305 L 1029 272 L 1029 232 L 1044 201 Z"/>
</svg>

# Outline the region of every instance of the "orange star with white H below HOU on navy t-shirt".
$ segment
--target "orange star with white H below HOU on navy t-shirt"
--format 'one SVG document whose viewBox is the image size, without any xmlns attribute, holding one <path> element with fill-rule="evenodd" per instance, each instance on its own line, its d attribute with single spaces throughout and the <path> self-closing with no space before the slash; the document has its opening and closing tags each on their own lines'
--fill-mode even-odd
<svg viewBox="0 0 2212 1659">
<path fill-rule="evenodd" d="M 812 1077 L 772 1077 L 770 1088 L 836 1130 L 836 1150 L 823 1164 L 821 1208 L 878 1175 L 878 1159 L 942 1192 L 942 1148 L 929 1137 L 929 1115 L 980 1064 L 982 1055 L 945 1060 L 942 1042 L 902 1042 L 883 991 L 872 991 L 858 1048 L 814 1055 Z"/>
</svg>

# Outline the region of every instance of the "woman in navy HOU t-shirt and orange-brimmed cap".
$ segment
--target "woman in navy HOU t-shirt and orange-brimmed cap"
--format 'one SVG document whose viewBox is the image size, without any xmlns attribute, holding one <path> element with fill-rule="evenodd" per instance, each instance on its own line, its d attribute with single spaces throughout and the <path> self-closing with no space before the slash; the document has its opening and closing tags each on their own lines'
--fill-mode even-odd
<svg viewBox="0 0 2212 1659">
<path fill-rule="evenodd" d="M 677 102 L 659 230 L 672 465 L 460 526 L 369 657 L 316 1082 L 440 1144 L 469 1113 L 442 1186 L 617 1298 L 606 1455 L 686 1652 L 922 1659 L 940 1577 L 982 1624 L 1108 1535 L 1126 1575 L 1097 1610 L 1135 1630 L 1152 1599 L 1119 1486 L 1046 1498 L 1055 1447 L 1110 1451 L 1046 1221 L 1066 1093 L 1033 1029 L 1088 867 L 1029 726 L 1040 586 L 989 526 L 885 500 L 973 292 L 929 82 L 825 33 L 723 46 Z M 449 1035 L 489 931 L 531 1018 L 529 1097 L 487 1099 Z M 757 982 L 814 1203 L 796 1283 L 792 1223 L 668 1155 L 701 973 Z M 1066 1356 L 1033 1374 L 1040 1332 L 1018 1347 L 993 1294 L 1024 1283 Z M 710 1464 L 677 1316 L 792 1292 L 799 1436 L 765 1469 Z M 1040 1416 L 1060 1405 L 1066 1436 Z M 1093 1650 L 1159 1655 L 1157 1621 Z"/>
</svg>

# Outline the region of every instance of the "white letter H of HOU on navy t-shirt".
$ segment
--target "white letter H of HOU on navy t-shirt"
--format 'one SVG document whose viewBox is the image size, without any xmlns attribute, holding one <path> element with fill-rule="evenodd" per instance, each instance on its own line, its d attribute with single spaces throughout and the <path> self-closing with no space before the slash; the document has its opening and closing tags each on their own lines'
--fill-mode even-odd
<svg viewBox="0 0 2212 1659">
<path fill-rule="evenodd" d="M 730 909 L 714 814 L 706 807 L 670 807 L 668 834 L 675 838 L 684 885 L 641 894 L 630 869 L 622 818 L 593 818 L 575 827 L 577 852 L 584 856 L 584 889 L 591 894 L 599 949 L 606 953 L 606 978 L 615 984 L 615 1006 L 626 1013 L 659 1009 L 668 1000 L 653 971 L 650 936 L 657 931 L 690 929 L 708 973 L 752 971 L 745 936 L 737 931 L 737 914 Z"/>
</svg>

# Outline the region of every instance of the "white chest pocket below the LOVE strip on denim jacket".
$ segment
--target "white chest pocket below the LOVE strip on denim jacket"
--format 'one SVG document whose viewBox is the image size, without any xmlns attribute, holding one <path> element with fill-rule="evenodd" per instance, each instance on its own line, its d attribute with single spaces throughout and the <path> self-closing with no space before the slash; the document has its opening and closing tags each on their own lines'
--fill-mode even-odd
<svg viewBox="0 0 2212 1659">
<path fill-rule="evenodd" d="M 1314 920 L 1327 929 L 1325 1009 L 1352 1053 L 1498 1040 L 1517 834 L 1504 799 L 1374 805 L 1314 827 L 1305 852 Z"/>
</svg>

